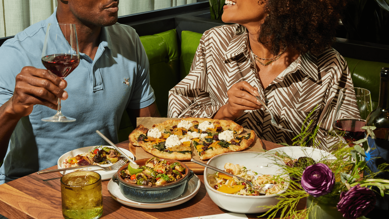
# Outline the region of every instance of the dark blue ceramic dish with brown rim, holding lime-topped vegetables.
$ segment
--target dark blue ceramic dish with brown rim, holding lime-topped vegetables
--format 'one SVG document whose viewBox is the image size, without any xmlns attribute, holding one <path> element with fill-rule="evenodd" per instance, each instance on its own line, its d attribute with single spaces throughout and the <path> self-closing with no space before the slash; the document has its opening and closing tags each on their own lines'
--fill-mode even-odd
<svg viewBox="0 0 389 219">
<path fill-rule="evenodd" d="M 177 198 L 181 194 L 185 192 L 187 189 L 187 183 L 193 177 L 193 171 L 189 170 L 189 168 L 182 162 L 160 158 L 162 161 L 166 160 L 170 163 L 179 162 L 182 167 L 185 168 L 184 177 L 179 180 L 165 184 L 165 185 L 137 185 L 125 182 L 120 177 L 120 172 L 127 168 L 128 164 L 122 166 L 115 175 L 112 176 L 112 180 L 119 185 L 120 192 L 128 199 L 140 202 L 159 202 L 159 201 L 167 201 L 173 198 Z M 143 166 L 146 161 L 149 159 L 140 159 L 135 161 L 139 166 Z"/>
</svg>

